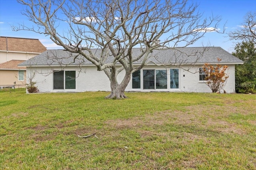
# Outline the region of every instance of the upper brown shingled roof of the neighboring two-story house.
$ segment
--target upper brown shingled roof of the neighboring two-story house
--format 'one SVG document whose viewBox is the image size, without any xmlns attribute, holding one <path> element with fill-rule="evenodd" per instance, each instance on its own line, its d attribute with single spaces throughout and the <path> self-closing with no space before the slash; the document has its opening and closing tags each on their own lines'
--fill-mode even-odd
<svg viewBox="0 0 256 170">
<path fill-rule="evenodd" d="M 42 53 L 46 47 L 38 39 L 0 37 L 0 51 Z"/>
</svg>

